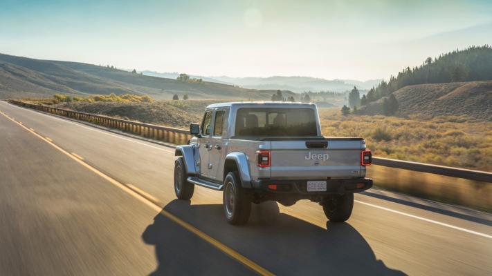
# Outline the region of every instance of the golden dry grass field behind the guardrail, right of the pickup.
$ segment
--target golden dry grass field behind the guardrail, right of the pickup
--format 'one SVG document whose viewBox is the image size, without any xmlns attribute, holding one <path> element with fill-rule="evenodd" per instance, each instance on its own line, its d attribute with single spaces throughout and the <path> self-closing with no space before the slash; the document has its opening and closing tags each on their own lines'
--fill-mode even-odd
<svg viewBox="0 0 492 276">
<path fill-rule="evenodd" d="M 376 157 L 492 171 L 492 122 L 466 115 L 342 116 L 320 108 L 322 133 L 363 137 Z"/>
</svg>

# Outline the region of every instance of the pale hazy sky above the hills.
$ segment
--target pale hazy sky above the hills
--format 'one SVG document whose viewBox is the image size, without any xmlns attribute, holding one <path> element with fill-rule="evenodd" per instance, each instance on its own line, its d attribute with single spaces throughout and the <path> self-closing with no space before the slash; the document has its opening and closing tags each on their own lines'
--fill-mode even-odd
<svg viewBox="0 0 492 276">
<path fill-rule="evenodd" d="M 489 0 L 0 0 L 0 53 L 138 71 L 388 79 L 484 44 Z"/>
</svg>

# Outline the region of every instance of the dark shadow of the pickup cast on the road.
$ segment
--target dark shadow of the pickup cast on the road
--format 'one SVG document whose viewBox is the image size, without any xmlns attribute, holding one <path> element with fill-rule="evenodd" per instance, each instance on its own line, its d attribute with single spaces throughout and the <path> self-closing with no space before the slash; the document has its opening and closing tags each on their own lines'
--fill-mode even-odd
<svg viewBox="0 0 492 276">
<path fill-rule="evenodd" d="M 174 200 L 163 210 L 277 275 L 405 275 L 376 259 L 349 223 L 327 229 L 280 213 L 275 202 L 253 205 L 245 226 L 230 226 L 220 204 Z M 201 237 L 159 213 L 143 241 L 156 246 L 158 268 L 151 275 L 252 275 Z"/>
</svg>

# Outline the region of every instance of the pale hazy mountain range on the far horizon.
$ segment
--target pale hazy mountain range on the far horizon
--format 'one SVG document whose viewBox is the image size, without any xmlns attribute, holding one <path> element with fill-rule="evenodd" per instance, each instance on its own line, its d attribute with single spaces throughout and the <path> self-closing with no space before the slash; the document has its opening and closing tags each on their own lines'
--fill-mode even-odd
<svg viewBox="0 0 492 276">
<path fill-rule="evenodd" d="M 293 92 L 319 92 L 319 91 L 334 91 L 334 92 L 345 92 L 347 90 L 352 90 L 354 86 L 358 90 L 369 90 L 377 83 L 381 82 L 381 79 L 370 80 L 370 81 L 352 81 L 352 80 L 340 80 L 335 79 L 329 81 L 327 79 L 319 79 L 313 77 L 244 77 L 244 78 L 233 78 L 233 77 L 210 77 L 212 79 L 217 79 L 218 81 L 223 81 L 224 83 L 231 83 L 243 88 L 252 89 L 280 89 L 280 90 L 291 90 Z"/>
</svg>

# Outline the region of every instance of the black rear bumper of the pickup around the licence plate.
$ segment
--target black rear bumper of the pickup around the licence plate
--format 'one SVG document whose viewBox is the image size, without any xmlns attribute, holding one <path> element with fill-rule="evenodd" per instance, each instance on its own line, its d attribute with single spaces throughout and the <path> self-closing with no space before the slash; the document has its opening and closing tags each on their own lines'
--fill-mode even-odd
<svg viewBox="0 0 492 276">
<path fill-rule="evenodd" d="M 259 179 L 257 181 L 251 181 L 251 185 L 259 193 L 298 195 L 300 198 L 310 198 L 312 196 L 361 193 L 372 187 L 372 179 L 327 179 L 327 190 L 322 192 L 308 192 L 307 180 Z M 275 189 L 272 188 L 272 185 L 275 185 Z"/>
</svg>

